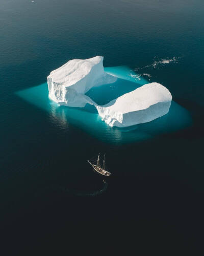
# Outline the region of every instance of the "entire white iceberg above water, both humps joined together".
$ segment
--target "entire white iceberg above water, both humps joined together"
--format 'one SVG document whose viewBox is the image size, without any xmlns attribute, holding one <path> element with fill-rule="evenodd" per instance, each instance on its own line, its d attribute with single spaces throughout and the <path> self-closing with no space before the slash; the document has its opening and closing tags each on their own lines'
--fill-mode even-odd
<svg viewBox="0 0 204 256">
<path fill-rule="evenodd" d="M 116 77 L 107 74 L 103 57 L 73 59 L 47 77 L 49 98 L 60 105 L 84 107 L 92 104 L 110 126 L 126 127 L 152 121 L 168 113 L 172 96 L 159 83 L 149 83 L 100 106 L 85 95 L 92 87 L 112 83 Z"/>
</svg>

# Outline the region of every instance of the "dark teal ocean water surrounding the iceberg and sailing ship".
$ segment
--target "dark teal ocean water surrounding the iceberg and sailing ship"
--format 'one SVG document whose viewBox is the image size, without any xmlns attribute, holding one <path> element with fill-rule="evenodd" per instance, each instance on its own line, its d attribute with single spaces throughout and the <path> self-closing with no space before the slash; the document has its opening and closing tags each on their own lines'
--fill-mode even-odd
<svg viewBox="0 0 204 256">
<path fill-rule="evenodd" d="M 1 1 L 2 250 L 203 255 L 203 12 L 199 0 Z M 169 114 L 121 131 L 48 100 L 50 71 L 95 55 L 120 77 L 96 101 L 159 82 Z M 106 183 L 86 162 L 98 152 Z"/>
</svg>

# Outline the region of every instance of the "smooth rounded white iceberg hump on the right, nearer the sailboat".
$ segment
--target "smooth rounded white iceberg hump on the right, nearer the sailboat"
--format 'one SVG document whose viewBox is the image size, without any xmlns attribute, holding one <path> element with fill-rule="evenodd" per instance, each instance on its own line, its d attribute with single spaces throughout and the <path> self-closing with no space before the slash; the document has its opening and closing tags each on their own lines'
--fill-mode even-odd
<svg viewBox="0 0 204 256">
<path fill-rule="evenodd" d="M 167 88 L 152 82 L 96 108 L 110 126 L 126 127 L 146 123 L 167 114 L 171 100 L 172 96 Z"/>
</svg>

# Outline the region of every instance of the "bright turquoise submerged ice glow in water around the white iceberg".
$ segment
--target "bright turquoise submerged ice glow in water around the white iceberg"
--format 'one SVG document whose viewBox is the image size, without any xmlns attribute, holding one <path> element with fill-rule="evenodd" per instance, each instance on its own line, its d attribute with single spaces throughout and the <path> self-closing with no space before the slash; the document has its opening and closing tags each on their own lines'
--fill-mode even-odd
<svg viewBox="0 0 204 256">
<path fill-rule="evenodd" d="M 132 71 L 127 67 L 112 67 L 105 70 L 119 77 L 119 79 L 113 84 L 93 88 L 87 93 L 98 104 L 105 104 L 148 82 L 145 79 L 138 81 L 136 78 L 131 77 L 129 74 Z M 172 101 L 167 115 L 149 123 L 119 129 L 118 127 L 110 127 L 101 121 L 96 111 L 89 106 L 85 109 L 58 106 L 57 103 L 48 98 L 47 83 L 18 91 L 16 94 L 38 108 L 48 111 L 50 118 L 54 122 L 59 122 L 63 129 L 69 123 L 77 125 L 97 139 L 110 143 L 130 143 L 150 139 L 162 133 L 183 129 L 191 123 L 188 111 L 174 101 Z"/>
</svg>

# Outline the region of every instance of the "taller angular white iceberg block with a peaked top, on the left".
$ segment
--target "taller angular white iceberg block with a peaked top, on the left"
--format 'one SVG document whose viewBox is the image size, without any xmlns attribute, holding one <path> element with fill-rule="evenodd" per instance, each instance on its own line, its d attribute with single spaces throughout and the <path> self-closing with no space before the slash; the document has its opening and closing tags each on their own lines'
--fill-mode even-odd
<svg viewBox="0 0 204 256">
<path fill-rule="evenodd" d="M 104 71 L 104 57 L 72 59 L 47 77 L 49 98 L 60 105 L 84 107 L 95 104 L 85 95 L 92 87 L 112 83 L 115 76 Z"/>
</svg>

